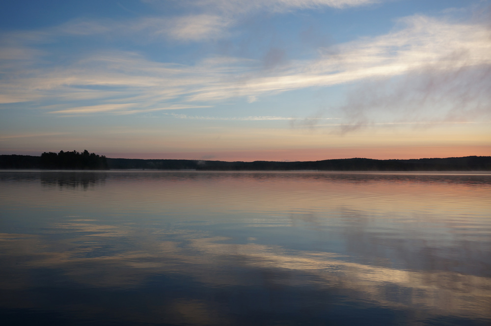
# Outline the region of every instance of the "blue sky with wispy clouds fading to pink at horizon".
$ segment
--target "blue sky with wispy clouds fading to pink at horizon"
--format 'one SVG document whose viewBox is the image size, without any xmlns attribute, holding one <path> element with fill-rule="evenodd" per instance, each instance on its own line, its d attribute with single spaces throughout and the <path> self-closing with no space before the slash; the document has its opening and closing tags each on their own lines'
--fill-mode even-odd
<svg viewBox="0 0 491 326">
<path fill-rule="evenodd" d="M 7 0 L 0 154 L 491 156 L 491 0 Z"/>
</svg>

